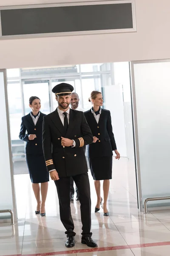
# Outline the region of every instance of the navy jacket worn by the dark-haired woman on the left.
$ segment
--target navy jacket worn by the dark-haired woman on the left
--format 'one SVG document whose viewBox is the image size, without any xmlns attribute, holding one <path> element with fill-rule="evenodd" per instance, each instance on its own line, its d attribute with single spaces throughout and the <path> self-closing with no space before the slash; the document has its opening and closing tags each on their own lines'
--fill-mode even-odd
<svg viewBox="0 0 170 256">
<path fill-rule="evenodd" d="M 26 141 L 26 154 L 43 154 L 42 151 L 42 122 L 45 114 L 40 112 L 36 125 L 32 120 L 30 113 L 22 117 L 19 138 Z M 27 134 L 26 134 L 27 131 Z M 36 134 L 34 140 L 29 140 L 29 134 Z"/>
</svg>

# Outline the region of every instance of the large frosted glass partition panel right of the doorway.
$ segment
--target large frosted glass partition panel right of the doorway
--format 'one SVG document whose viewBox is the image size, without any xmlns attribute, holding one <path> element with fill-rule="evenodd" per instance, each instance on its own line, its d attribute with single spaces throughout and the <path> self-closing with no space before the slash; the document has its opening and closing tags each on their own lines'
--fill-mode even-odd
<svg viewBox="0 0 170 256">
<path fill-rule="evenodd" d="M 170 196 L 170 61 L 134 63 L 133 68 L 142 207 L 146 198 Z"/>
</svg>

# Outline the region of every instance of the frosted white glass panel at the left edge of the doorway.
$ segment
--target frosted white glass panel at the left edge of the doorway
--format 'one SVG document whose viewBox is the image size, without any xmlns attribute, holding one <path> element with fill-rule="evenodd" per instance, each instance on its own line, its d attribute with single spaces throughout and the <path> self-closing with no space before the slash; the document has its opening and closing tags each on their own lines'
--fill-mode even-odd
<svg viewBox="0 0 170 256">
<path fill-rule="evenodd" d="M 14 221 L 16 221 L 6 70 L 0 70 L 0 105 L 0 210 L 11 209 L 14 212 Z M 0 213 L 0 219 L 10 217 L 9 213 Z"/>
</svg>

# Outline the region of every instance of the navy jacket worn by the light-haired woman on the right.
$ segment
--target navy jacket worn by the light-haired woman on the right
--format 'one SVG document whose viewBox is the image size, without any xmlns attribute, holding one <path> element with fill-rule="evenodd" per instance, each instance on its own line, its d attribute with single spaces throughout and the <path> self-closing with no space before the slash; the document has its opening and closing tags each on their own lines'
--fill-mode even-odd
<svg viewBox="0 0 170 256">
<path fill-rule="evenodd" d="M 89 145 L 88 156 L 91 158 L 112 156 L 112 151 L 116 149 L 116 143 L 111 125 L 111 112 L 101 109 L 98 123 L 91 109 L 84 114 L 93 136 L 99 139 L 96 143 Z"/>
</svg>

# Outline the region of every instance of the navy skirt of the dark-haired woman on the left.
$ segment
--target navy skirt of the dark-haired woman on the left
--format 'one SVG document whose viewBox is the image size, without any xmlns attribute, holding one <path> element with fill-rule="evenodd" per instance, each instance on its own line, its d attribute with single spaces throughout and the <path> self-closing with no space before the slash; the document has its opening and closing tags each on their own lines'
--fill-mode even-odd
<svg viewBox="0 0 170 256">
<path fill-rule="evenodd" d="M 43 154 L 26 154 L 26 162 L 32 183 L 44 183 L 49 181 L 49 173 Z"/>
</svg>

